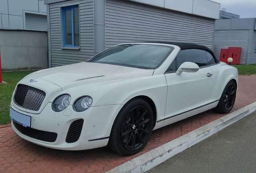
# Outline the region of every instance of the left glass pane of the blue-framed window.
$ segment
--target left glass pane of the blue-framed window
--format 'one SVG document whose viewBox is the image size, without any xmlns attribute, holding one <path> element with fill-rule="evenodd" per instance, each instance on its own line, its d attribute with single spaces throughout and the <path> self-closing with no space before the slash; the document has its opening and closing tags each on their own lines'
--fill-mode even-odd
<svg viewBox="0 0 256 173">
<path fill-rule="evenodd" d="M 72 45 L 72 16 L 71 10 L 65 10 L 65 44 Z"/>
</svg>

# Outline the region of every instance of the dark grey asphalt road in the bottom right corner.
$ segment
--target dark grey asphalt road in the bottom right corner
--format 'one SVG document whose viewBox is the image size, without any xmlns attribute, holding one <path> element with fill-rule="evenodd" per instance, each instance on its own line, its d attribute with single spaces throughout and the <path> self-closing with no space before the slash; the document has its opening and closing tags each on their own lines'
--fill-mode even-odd
<svg viewBox="0 0 256 173">
<path fill-rule="evenodd" d="M 256 173 L 256 112 L 147 173 Z"/>
</svg>

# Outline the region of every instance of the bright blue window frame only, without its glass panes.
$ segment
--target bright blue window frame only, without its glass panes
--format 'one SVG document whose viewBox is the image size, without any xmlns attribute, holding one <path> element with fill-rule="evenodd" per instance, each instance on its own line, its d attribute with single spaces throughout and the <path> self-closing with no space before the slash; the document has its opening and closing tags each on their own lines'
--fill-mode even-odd
<svg viewBox="0 0 256 173">
<path fill-rule="evenodd" d="M 80 9 L 79 9 L 79 4 L 75 4 L 75 5 L 71 5 L 71 6 L 64 6 L 64 7 L 61 7 L 61 11 L 62 11 L 62 24 L 61 24 L 61 26 L 62 26 L 62 48 L 67 48 L 67 49 L 80 49 L 80 41 L 81 41 L 81 39 L 80 39 L 80 36 L 81 36 L 81 34 L 80 34 L 80 16 L 78 17 L 78 20 L 79 20 L 79 46 L 75 46 L 74 45 L 74 40 L 75 40 L 75 36 L 74 36 L 74 11 L 73 11 L 73 9 L 74 8 L 77 8 L 78 7 L 78 16 L 79 16 L 79 11 L 80 11 Z M 66 10 L 71 10 L 71 27 L 72 27 L 72 44 L 66 44 L 66 21 L 65 21 L 65 19 L 66 19 L 66 14 L 65 14 L 65 11 Z"/>
</svg>

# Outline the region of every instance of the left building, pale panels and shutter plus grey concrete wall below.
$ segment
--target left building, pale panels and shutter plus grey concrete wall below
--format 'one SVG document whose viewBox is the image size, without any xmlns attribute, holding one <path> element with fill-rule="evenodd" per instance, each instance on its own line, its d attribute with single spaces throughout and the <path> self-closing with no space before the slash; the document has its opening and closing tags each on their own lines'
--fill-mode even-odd
<svg viewBox="0 0 256 173">
<path fill-rule="evenodd" d="M 2 70 L 48 67 L 46 9 L 43 0 L 0 0 Z"/>
</svg>

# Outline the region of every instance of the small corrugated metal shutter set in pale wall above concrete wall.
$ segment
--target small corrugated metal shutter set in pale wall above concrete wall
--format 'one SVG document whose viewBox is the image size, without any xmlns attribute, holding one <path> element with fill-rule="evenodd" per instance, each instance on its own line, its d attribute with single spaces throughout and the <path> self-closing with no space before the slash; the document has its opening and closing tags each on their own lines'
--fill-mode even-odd
<svg viewBox="0 0 256 173">
<path fill-rule="evenodd" d="M 47 30 L 47 16 L 25 13 L 26 29 Z"/>
</svg>

